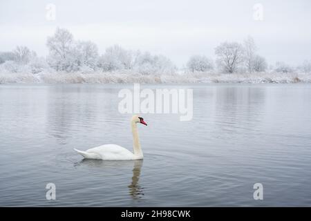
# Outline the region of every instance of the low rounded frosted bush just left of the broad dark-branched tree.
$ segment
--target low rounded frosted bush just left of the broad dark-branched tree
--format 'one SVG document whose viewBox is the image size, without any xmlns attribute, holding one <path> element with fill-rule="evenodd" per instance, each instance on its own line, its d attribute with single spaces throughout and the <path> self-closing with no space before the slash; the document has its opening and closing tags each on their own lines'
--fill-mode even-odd
<svg viewBox="0 0 311 221">
<path fill-rule="evenodd" d="M 194 55 L 190 57 L 187 67 L 192 72 L 194 71 L 207 71 L 213 69 L 213 61 L 205 56 Z"/>
</svg>

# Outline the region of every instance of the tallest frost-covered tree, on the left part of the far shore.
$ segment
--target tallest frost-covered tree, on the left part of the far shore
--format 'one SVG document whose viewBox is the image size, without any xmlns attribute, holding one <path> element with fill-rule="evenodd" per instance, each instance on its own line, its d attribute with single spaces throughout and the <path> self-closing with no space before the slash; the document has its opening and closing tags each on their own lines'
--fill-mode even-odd
<svg viewBox="0 0 311 221">
<path fill-rule="evenodd" d="M 48 64 L 55 70 L 70 71 L 73 68 L 75 57 L 73 53 L 73 35 L 64 28 L 57 28 L 52 37 L 48 37 Z"/>
</svg>

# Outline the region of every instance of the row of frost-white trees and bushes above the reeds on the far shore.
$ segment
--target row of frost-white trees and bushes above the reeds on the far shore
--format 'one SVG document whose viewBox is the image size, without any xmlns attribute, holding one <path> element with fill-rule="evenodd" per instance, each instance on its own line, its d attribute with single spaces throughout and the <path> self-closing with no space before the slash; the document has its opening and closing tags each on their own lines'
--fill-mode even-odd
<svg viewBox="0 0 311 221">
<path fill-rule="evenodd" d="M 142 75 L 172 74 L 177 68 L 171 60 L 163 55 L 152 55 L 140 50 L 126 50 L 118 45 L 106 48 L 100 55 L 97 45 L 92 41 L 76 41 L 73 34 L 65 28 L 57 28 L 54 35 L 46 41 L 48 56 L 37 57 L 36 52 L 26 46 L 17 46 L 12 52 L 0 52 L 0 70 L 19 72 L 26 66 L 31 73 L 40 73 L 52 68 L 62 72 L 91 73 L 101 70 L 113 72 L 117 70 L 133 70 Z M 258 48 L 252 37 L 243 43 L 223 42 L 214 50 L 214 61 L 205 55 L 194 55 L 187 62 L 188 72 L 209 72 L 218 70 L 221 73 L 256 73 L 265 72 L 267 61 L 258 55 Z M 311 61 L 305 61 L 299 69 L 311 72 Z M 277 62 L 276 72 L 290 73 L 294 68 Z"/>
</svg>

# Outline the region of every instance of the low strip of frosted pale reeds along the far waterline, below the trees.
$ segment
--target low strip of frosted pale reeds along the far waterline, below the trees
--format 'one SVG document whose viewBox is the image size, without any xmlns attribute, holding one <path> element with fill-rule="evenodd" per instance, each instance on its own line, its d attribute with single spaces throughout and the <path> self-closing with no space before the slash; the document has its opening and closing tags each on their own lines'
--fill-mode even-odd
<svg viewBox="0 0 311 221">
<path fill-rule="evenodd" d="M 311 73 L 0 73 L 0 84 L 162 84 L 162 83 L 311 83 Z"/>
</svg>

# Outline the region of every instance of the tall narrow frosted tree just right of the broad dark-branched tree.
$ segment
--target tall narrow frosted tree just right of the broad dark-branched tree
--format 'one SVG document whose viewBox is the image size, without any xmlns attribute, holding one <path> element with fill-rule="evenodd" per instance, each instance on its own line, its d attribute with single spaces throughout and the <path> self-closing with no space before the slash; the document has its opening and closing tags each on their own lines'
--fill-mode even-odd
<svg viewBox="0 0 311 221">
<path fill-rule="evenodd" d="M 256 57 L 256 51 L 257 47 L 255 44 L 255 41 L 252 37 L 247 37 L 247 39 L 244 40 L 244 61 L 245 61 L 245 66 L 247 68 L 247 71 L 249 73 L 252 73 L 254 71 L 254 62 L 255 62 L 255 57 Z"/>
</svg>

